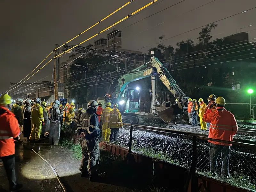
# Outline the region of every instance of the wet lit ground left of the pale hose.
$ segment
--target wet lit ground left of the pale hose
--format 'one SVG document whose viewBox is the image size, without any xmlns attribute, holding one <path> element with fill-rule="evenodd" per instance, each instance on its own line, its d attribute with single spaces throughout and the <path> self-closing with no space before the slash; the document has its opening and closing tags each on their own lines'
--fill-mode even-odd
<svg viewBox="0 0 256 192">
<path fill-rule="evenodd" d="M 23 184 L 23 192 L 63 192 L 49 165 L 31 150 L 22 145 L 16 147 L 16 175 Z M 9 191 L 8 180 L 0 161 L 0 191 Z"/>
</svg>

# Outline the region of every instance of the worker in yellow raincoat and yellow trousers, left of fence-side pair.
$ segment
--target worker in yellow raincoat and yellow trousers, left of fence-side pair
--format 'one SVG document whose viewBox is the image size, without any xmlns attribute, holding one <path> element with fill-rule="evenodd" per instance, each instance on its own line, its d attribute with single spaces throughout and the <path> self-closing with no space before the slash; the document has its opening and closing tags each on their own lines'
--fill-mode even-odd
<svg viewBox="0 0 256 192">
<path fill-rule="evenodd" d="M 113 111 L 113 109 L 110 108 L 111 103 L 108 102 L 106 104 L 106 108 L 102 110 L 102 115 L 100 117 L 101 121 L 108 121 L 109 113 L 110 111 Z M 110 128 L 108 127 L 108 122 L 102 122 L 102 139 L 105 141 L 109 141 L 110 137 Z"/>
</svg>

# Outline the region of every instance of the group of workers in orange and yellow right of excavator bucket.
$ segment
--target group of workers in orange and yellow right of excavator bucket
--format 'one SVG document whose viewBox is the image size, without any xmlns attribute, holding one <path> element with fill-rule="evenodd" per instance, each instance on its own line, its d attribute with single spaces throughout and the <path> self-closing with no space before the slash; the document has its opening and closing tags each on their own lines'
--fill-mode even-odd
<svg viewBox="0 0 256 192">
<path fill-rule="evenodd" d="M 209 128 L 209 138 L 233 141 L 238 126 L 235 116 L 225 109 L 226 100 L 223 97 L 217 98 L 214 94 L 211 94 L 207 100 L 208 105 L 200 98 L 198 100 L 200 107 L 198 107 L 196 99 L 188 99 L 189 124 L 197 126 L 197 115 L 199 115 L 201 130 L 206 131 Z M 222 159 L 221 174 L 230 176 L 228 162 L 231 144 L 214 140 L 208 141 L 210 142 L 209 161 L 211 172 L 217 172 L 217 159 L 220 156 Z"/>
</svg>

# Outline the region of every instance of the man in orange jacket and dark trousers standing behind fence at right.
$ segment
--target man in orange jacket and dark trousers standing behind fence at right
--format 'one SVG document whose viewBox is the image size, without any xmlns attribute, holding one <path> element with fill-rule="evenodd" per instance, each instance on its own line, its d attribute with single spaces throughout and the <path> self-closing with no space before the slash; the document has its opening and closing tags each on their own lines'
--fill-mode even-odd
<svg viewBox="0 0 256 192">
<path fill-rule="evenodd" d="M 215 102 L 217 104 L 216 110 L 211 113 L 205 113 L 203 117 L 205 122 L 210 123 L 208 137 L 212 139 L 232 141 L 238 128 L 235 116 L 224 108 L 226 101 L 223 97 L 218 97 Z M 228 161 L 231 144 L 219 141 L 208 141 L 211 143 L 209 150 L 211 172 L 216 172 L 218 156 L 221 156 L 221 174 L 224 176 L 230 176 Z"/>
</svg>

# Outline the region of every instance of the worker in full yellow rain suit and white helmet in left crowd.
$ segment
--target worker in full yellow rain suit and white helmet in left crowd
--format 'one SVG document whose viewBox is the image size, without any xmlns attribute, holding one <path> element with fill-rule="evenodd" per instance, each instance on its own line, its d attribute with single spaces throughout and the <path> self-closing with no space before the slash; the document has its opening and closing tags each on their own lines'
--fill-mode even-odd
<svg viewBox="0 0 256 192">
<path fill-rule="evenodd" d="M 44 125 L 43 108 L 40 105 L 40 99 L 35 99 L 35 105 L 31 108 L 32 130 L 29 137 L 30 142 L 38 142 Z"/>
</svg>

